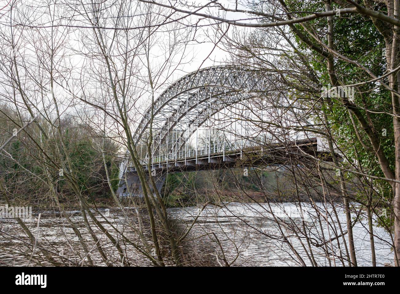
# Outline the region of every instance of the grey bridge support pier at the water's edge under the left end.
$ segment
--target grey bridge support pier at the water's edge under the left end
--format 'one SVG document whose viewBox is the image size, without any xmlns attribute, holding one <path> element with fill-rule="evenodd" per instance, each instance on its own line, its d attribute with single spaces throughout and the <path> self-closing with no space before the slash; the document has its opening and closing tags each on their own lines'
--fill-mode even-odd
<svg viewBox="0 0 400 294">
<path fill-rule="evenodd" d="M 146 171 L 147 172 L 147 171 Z M 123 180 L 120 181 L 120 186 L 117 190 L 117 195 L 122 198 L 132 197 L 143 197 L 143 188 L 140 183 L 140 179 L 137 172 L 126 172 Z M 166 180 L 166 174 L 164 172 L 158 172 L 156 176 L 153 176 L 154 182 L 156 183 L 156 189 L 161 193 L 162 186 L 164 186 Z M 146 180 L 149 181 L 149 176 L 146 174 Z M 150 184 L 150 181 L 149 181 Z M 150 184 L 151 187 L 151 184 Z M 155 193 L 154 193 L 155 196 Z"/>
</svg>

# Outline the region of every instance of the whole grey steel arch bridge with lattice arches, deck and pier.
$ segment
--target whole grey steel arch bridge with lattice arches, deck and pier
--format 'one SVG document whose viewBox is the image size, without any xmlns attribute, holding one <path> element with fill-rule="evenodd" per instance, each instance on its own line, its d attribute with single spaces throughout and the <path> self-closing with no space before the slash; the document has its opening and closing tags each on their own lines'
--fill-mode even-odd
<svg viewBox="0 0 400 294">
<path fill-rule="evenodd" d="M 250 128 L 248 119 L 240 118 L 252 115 L 246 103 L 250 98 L 262 100 L 260 93 L 279 100 L 284 95 L 279 88 L 276 75 L 238 66 L 203 68 L 172 83 L 156 99 L 153 108 L 146 110 L 133 136 L 139 162 L 144 169 L 150 167 L 156 188 L 161 190 L 167 171 L 286 164 L 290 154 L 304 157 L 324 152 L 320 138 L 310 138 L 301 130 L 287 132 L 279 141 L 265 132 L 250 134 L 254 128 Z M 210 127 L 210 120 L 224 123 L 216 128 L 214 122 Z M 241 133 L 228 128 L 234 122 L 240 125 Z M 146 152 L 150 126 L 151 156 Z M 205 138 L 199 143 L 202 128 Z M 129 159 L 122 162 L 119 176 L 120 197 L 141 195 L 138 173 Z"/>
</svg>

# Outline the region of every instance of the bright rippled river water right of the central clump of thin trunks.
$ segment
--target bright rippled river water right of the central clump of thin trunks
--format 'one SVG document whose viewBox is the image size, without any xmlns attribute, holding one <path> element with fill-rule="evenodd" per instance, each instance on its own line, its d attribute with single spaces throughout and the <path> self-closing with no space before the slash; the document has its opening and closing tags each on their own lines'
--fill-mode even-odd
<svg viewBox="0 0 400 294">
<path fill-rule="evenodd" d="M 306 205 L 306 204 L 304 204 Z M 308 209 L 307 209 L 308 208 Z M 304 209 L 304 208 L 303 208 Z M 196 234 L 206 234 L 214 232 L 222 244 L 227 255 L 236 259 L 236 265 L 246 266 L 287 266 L 287 265 L 300 265 L 294 253 L 286 244 L 282 244 L 278 240 L 271 239 L 271 236 L 281 236 L 279 229 L 269 211 L 273 211 L 275 216 L 282 218 L 282 220 L 289 222 L 291 220 L 301 227 L 301 214 L 298 208 L 291 203 L 286 203 L 284 206 L 281 204 L 227 204 L 223 208 L 216 208 L 208 206 L 198 218 L 194 231 Z M 174 208 L 171 209 L 171 216 L 175 219 L 180 219 L 180 222 L 189 223 L 196 216 L 198 208 Z M 308 213 L 307 213 L 308 212 Z M 314 220 L 315 212 L 306 205 L 304 209 L 303 218 L 308 226 L 311 227 L 312 220 Z M 342 229 L 346 230 L 346 217 L 343 211 L 338 211 L 338 218 L 342 224 Z M 247 225 L 244 225 L 246 223 Z M 338 229 L 336 222 L 336 228 Z M 354 242 L 356 247 L 356 256 L 358 266 L 370 266 L 371 253 L 370 253 L 370 239 L 366 228 L 368 223 L 363 220 L 356 224 L 353 228 Z M 303 258 L 307 265 L 310 265 L 302 245 L 294 238 L 292 233 L 288 233 L 285 228 L 282 230 L 287 234 L 289 240 L 294 248 Z M 323 227 L 325 240 L 333 237 L 332 229 L 328 230 L 326 224 Z M 375 250 L 376 260 L 378 265 L 390 264 L 392 262 L 392 252 L 390 250 L 389 235 L 383 228 L 374 228 L 375 236 Z M 321 230 L 314 228 L 314 232 L 310 232 L 310 236 L 321 236 Z M 381 240 L 380 240 L 381 239 Z M 345 249 L 342 244 L 342 239 L 339 239 L 342 254 L 345 254 Z M 346 236 L 347 241 L 347 236 Z M 305 243 L 306 241 L 304 241 Z M 238 248 L 236 248 L 236 246 Z M 305 244 L 306 246 L 306 244 Z M 334 248 L 334 252 L 339 252 L 337 242 L 328 243 L 328 248 Z M 331 250 L 330 250 L 331 251 Z M 239 254 L 237 254 L 239 252 Z M 328 258 L 323 250 L 313 248 L 314 258 L 322 266 L 328 266 Z M 334 256 L 330 256 L 331 265 L 341 266 L 338 259 L 335 260 Z M 346 264 L 347 265 L 347 264 Z"/>
</svg>

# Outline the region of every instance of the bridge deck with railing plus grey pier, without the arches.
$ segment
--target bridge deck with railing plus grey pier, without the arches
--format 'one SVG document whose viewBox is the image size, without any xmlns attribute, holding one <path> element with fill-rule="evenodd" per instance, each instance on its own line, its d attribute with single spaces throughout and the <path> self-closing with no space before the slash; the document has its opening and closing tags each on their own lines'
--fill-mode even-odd
<svg viewBox="0 0 400 294">
<path fill-rule="evenodd" d="M 320 157 L 325 161 L 331 161 L 328 152 L 318 151 L 317 138 L 298 140 L 292 148 L 282 148 L 282 144 L 274 144 L 267 150 L 264 148 L 243 148 L 242 150 L 230 151 L 229 153 L 218 152 L 212 154 L 197 154 L 197 156 L 179 158 L 171 161 L 152 162 L 150 170 L 154 175 L 156 188 L 161 192 L 167 173 L 190 172 L 201 170 L 218 170 L 226 168 L 245 168 L 250 166 L 277 166 L 291 165 L 291 159 L 297 157 L 296 164 L 306 165 L 312 163 L 308 154 Z M 300 159 L 300 160 L 299 160 Z M 144 166 L 148 173 L 148 166 Z M 142 185 L 140 184 L 136 168 L 128 167 L 120 182 L 117 194 L 120 197 L 142 197 Z"/>
</svg>

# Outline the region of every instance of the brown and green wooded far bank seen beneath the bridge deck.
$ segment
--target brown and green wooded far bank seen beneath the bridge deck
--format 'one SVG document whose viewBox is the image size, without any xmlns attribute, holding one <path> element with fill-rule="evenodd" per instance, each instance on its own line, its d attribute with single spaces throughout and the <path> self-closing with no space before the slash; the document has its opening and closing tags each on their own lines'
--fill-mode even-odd
<svg viewBox="0 0 400 294">
<path fill-rule="evenodd" d="M 297 202 L 290 174 L 284 168 L 271 171 L 242 168 L 168 174 L 163 194 L 168 207 L 220 202 Z M 306 195 L 300 201 L 309 202 Z M 318 200 L 316 200 L 318 201 Z"/>
</svg>

